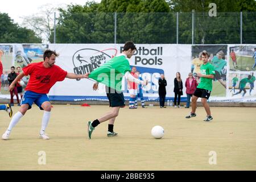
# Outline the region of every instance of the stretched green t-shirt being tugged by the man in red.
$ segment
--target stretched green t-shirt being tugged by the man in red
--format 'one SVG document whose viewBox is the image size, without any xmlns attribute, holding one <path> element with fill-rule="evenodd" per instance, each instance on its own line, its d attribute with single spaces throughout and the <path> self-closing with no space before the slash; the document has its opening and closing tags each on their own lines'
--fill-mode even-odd
<svg viewBox="0 0 256 182">
<path fill-rule="evenodd" d="M 89 78 L 101 82 L 118 92 L 122 91 L 122 78 L 127 71 L 131 71 L 129 61 L 124 55 L 115 56 L 101 67 L 94 69 Z"/>
</svg>

